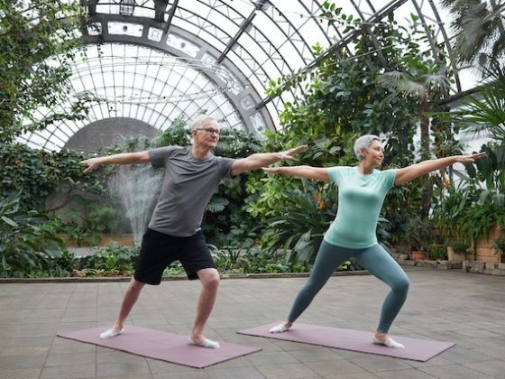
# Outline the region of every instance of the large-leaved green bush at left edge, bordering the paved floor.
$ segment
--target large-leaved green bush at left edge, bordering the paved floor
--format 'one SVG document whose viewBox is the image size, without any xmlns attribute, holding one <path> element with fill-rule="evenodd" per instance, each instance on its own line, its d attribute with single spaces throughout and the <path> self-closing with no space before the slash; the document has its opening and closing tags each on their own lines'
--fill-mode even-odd
<svg viewBox="0 0 505 379">
<path fill-rule="evenodd" d="M 35 210 L 24 210 L 19 195 L 0 200 L 0 276 L 19 277 L 50 267 L 60 256 L 62 241 L 49 219 Z"/>
</svg>

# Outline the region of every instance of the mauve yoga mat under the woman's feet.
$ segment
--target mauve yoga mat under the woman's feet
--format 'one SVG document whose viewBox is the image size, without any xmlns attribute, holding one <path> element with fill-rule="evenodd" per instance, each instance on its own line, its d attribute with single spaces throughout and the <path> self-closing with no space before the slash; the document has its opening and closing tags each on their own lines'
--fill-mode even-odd
<svg viewBox="0 0 505 379">
<path fill-rule="evenodd" d="M 379 356 L 393 356 L 395 358 L 410 359 L 426 362 L 428 359 L 439 355 L 450 347 L 453 342 L 440 342 L 427 339 L 391 336 L 405 348 L 391 348 L 372 344 L 372 332 L 361 330 L 321 327 L 296 323 L 292 329 L 284 333 L 270 333 L 271 327 L 279 323 L 264 325 L 262 327 L 244 329 L 237 333 L 256 337 L 283 339 L 292 342 L 301 342 L 322 347 L 335 347 L 344 350 L 376 354 Z"/>
</svg>

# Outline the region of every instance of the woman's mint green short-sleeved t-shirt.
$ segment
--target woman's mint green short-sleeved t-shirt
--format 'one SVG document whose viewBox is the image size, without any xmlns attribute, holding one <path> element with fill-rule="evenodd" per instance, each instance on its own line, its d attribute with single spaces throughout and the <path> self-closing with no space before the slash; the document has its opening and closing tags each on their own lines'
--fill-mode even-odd
<svg viewBox="0 0 505 379">
<path fill-rule="evenodd" d="M 382 203 L 394 186 L 396 170 L 362 174 L 357 167 L 331 167 L 328 176 L 338 186 L 338 210 L 325 241 L 351 249 L 377 244 L 375 230 Z"/>
</svg>

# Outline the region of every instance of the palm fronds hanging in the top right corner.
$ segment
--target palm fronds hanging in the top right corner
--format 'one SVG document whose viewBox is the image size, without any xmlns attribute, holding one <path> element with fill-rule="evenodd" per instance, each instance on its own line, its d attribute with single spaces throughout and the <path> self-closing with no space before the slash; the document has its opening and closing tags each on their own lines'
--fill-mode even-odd
<svg viewBox="0 0 505 379">
<path fill-rule="evenodd" d="M 455 20 L 454 51 L 463 64 L 486 67 L 505 56 L 503 0 L 441 0 Z"/>
</svg>

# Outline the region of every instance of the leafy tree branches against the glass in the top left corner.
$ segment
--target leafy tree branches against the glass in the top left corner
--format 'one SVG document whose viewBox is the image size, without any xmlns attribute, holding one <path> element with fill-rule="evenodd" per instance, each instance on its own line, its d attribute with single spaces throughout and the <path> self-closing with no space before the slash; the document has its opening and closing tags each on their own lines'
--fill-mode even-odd
<svg viewBox="0 0 505 379">
<path fill-rule="evenodd" d="M 5 0 L 0 14 L 0 143 L 85 116 L 84 101 L 68 101 L 71 63 L 84 22 L 78 2 Z M 41 108 L 50 114 L 37 119 Z"/>
</svg>

